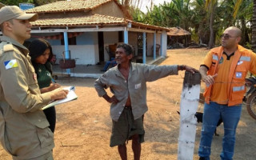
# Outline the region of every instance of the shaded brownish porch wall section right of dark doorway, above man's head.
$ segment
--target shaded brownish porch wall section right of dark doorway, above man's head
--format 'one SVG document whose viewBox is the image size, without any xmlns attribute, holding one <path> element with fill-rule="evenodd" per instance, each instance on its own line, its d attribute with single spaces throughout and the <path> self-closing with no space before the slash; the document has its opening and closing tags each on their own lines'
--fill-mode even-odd
<svg viewBox="0 0 256 160">
<path fill-rule="evenodd" d="M 118 32 L 104 32 L 104 60 L 108 61 L 110 59 L 109 54 L 106 52 L 106 46 L 118 43 Z"/>
</svg>

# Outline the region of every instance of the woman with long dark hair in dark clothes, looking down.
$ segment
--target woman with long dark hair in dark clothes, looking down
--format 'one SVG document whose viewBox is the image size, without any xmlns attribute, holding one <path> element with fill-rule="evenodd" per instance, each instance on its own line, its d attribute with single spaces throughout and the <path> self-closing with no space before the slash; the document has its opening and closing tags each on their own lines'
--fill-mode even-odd
<svg viewBox="0 0 256 160">
<path fill-rule="evenodd" d="M 58 83 L 52 82 L 52 66 L 50 60 L 54 54 L 50 43 L 45 39 L 38 38 L 30 43 L 29 50 L 41 93 L 59 88 L 60 85 Z M 50 130 L 54 133 L 56 123 L 55 107 L 47 108 L 43 112 L 46 114 L 46 118 L 50 123 Z"/>
</svg>

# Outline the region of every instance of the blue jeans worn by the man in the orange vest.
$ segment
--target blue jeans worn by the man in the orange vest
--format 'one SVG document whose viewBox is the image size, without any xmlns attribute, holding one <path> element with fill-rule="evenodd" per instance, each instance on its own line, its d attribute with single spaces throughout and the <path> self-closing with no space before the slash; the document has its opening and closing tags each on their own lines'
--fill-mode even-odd
<svg viewBox="0 0 256 160">
<path fill-rule="evenodd" d="M 238 106 L 220 105 L 210 102 L 204 106 L 202 118 L 202 131 L 198 155 L 210 159 L 210 146 L 219 118 L 224 125 L 224 137 L 222 138 L 222 160 L 230 160 L 234 155 L 235 130 L 241 116 L 242 104 Z"/>
</svg>

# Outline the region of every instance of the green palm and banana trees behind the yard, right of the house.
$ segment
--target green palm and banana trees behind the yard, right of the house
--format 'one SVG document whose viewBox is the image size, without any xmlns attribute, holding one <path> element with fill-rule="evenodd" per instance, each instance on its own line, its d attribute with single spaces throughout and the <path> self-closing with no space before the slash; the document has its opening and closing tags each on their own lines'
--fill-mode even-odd
<svg viewBox="0 0 256 160">
<path fill-rule="evenodd" d="M 194 42 L 209 45 L 218 44 L 220 35 L 228 26 L 242 30 L 242 45 L 250 47 L 253 0 L 173 0 L 160 6 L 153 6 L 142 13 L 132 9 L 134 21 L 151 25 L 180 26 L 192 33 Z"/>
</svg>

